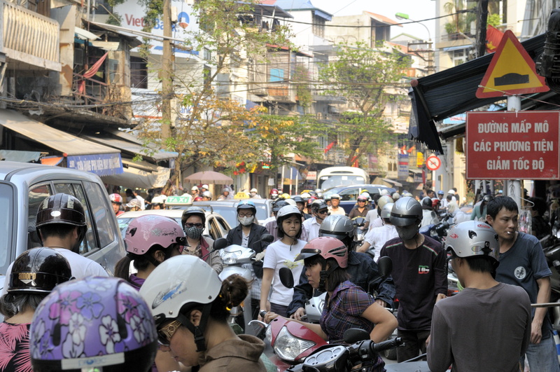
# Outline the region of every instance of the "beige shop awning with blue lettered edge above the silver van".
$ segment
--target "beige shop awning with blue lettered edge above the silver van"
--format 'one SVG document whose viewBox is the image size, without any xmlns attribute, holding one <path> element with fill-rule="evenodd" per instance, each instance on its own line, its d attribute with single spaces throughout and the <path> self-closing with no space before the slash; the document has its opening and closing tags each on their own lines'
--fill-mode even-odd
<svg viewBox="0 0 560 372">
<path fill-rule="evenodd" d="M 111 147 L 70 135 L 11 110 L 0 110 L 0 125 L 62 153 L 69 168 L 99 176 L 123 172 L 120 151 Z"/>
</svg>

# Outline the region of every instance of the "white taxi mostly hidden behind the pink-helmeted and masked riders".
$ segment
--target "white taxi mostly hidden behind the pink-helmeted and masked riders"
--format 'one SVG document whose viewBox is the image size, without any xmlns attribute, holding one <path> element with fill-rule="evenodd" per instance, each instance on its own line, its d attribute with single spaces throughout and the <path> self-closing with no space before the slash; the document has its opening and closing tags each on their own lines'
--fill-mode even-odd
<svg viewBox="0 0 560 372">
<path fill-rule="evenodd" d="M 132 221 L 132 219 L 139 216 L 146 216 L 146 214 L 155 214 L 158 216 L 171 217 L 179 223 L 179 226 L 181 226 L 181 216 L 183 216 L 184 210 L 185 209 L 153 209 L 147 211 L 125 212 L 117 217 L 117 221 L 124 239 L 128 224 Z M 218 239 L 218 237 L 225 237 L 231 229 L 228 221 L 225 221 L 223 216 L 214 212 L 206 212 L 205 225 L 206 226 L 204 226 L 204 232 L 202 234 L 208 235 L 214 240 Z M 183 226 L 181 226 L 181 229 L 182 228 Z"/>
</svg>

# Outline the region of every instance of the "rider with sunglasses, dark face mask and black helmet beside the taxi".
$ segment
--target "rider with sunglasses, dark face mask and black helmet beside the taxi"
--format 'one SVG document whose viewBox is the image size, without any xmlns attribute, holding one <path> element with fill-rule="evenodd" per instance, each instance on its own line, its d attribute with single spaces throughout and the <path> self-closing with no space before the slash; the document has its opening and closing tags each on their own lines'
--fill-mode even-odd
<svg viewBox="0 0 560 372">
<path fill-rule="evenodd" d="M 220 252 L 212 251 L 214 240 L 211 237 L 202 236 L 204 233 L 204 223 L 206 223 L 206 213 L 200 207 L 189 207 L 183 212 L 181 217 L 183 230 L 187 235 L 188 246 L 183 250 L 183 254 L 192 254 L 199 259 L 203 259 L 216 270 L 221 273 L 223 270 L 223 262 Z"/>
</svg>

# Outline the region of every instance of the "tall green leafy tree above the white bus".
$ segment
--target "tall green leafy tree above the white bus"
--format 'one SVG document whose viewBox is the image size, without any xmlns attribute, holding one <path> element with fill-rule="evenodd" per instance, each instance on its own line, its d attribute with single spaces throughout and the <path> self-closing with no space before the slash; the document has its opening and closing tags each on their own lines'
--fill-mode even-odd
<svg viewBox="0 0 560 372">
<path fill-rule="evenodd" d="M 396 49 L 370 49 L 358 42 L 339 45 L 335 60 L 319 70 L 319 80 L 325 86 L 323 94 L 342 96 L 349 107 L 336 128 L 344 138 L 346 165 L 393 138 L 391 123 L 382 115 L 391 99 L 406 97 L 399 89 L 409 63 L 409 57 Z"/>
</svg>

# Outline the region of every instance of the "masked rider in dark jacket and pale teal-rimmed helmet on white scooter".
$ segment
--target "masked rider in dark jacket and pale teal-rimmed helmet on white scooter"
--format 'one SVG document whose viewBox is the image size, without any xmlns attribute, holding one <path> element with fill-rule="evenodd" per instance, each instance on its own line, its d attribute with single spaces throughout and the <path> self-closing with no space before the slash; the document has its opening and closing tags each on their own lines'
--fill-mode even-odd
<svg viewBox="0 0 560 372">
<path fill-rule="evenodd" d="M 251 314 L 253 319 L 257 319 L 260 304 L 260 283 L 262 281 L 262 256 L 264 256 L 267 243 L 262 242 L 260 238 L 263 234 L 267 234 L 265 226 L 258 225 L 255 218 L 257 208 L 251 200 L 242 200 L 237 205 L 237 221 L 239 225 L 232 228 L 225 238 L 228 245 L 238 244 L 241 247 L 247 247 L 257 252 L 258 260 L 249 265 L 253 270 L 253 284 L 251 284 Z"/>
</svg>

